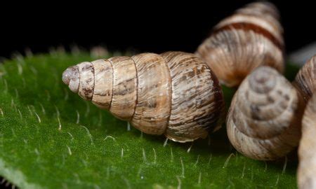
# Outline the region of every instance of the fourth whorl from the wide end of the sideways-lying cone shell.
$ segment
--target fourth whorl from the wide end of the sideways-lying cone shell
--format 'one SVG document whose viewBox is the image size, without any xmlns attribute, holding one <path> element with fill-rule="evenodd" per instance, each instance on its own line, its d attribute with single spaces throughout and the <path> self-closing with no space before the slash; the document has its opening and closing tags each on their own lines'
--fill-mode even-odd
<svg viewBox="0 0 316 189">
<path fill-rule="evenodd" d="M 101 109 L 110 109 L 112 101 L 112 64 L 107 59 L 91 62 L 94 68 L 94 90 L 92 103 Z"/>
</svg>

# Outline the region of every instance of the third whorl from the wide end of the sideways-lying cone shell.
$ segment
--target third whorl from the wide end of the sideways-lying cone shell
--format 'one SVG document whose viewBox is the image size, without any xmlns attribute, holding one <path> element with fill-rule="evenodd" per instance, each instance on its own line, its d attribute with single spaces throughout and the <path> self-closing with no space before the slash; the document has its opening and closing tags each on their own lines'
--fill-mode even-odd
<svg viewBox="0 0 316 189">
<path fill-rule="evenodd" d="M 131 57 L 112 57 L 113 94 L 110 112 L 121 120 L 131 120 L 137 100 L 136 66 Z"/>
</svg>

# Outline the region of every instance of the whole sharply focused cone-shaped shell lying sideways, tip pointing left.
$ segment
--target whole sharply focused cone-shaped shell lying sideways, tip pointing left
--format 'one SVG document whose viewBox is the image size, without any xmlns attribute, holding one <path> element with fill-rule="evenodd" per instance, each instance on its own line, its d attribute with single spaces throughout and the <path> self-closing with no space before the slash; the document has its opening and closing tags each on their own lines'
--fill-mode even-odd
<svg viewBox="0 0 316 189">
<path fill-rule="evenodd" d="M 66 69 L 62 80 L 83 99 L 147 134 L 193 141 L 221 124 L 224 101 L 218 79 L 190 53 L 82 62 Z"/>
</svg>

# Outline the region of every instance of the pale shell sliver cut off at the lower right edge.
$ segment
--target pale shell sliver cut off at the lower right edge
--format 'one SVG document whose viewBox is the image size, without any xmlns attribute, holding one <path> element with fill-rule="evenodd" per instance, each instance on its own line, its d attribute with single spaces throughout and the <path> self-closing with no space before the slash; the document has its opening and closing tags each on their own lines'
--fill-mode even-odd
<svg viewBox="0 0 316 189">
<path fill-rule="evenodd" d="M 306 106 L 298 148 L 298 187 L 316 188 L 316 94 Z"/>
</svg>

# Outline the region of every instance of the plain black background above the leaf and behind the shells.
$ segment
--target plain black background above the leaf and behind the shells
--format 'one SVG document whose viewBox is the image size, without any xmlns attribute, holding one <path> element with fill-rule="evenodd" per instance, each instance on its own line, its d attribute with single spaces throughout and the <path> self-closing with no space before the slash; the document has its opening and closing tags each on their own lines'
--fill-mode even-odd
<svg viewBox="0 0 316 189">
<path fill-rule="evenodd" d="M 66 50 L 71 45 L 86 49 L 105 45 L 111 51 L 194 52 L 217 22 L 249 2 L 45 1 L 36 3 L 32 10 L 17 2 L 1 7 L 0 57 L 23 54 L 25 48 L 48 52 L 58 45 Z M 282 16 L 287 52 L 316 41 L 316 10 L 311 2 L 272 2 Z"/>
</svg>

